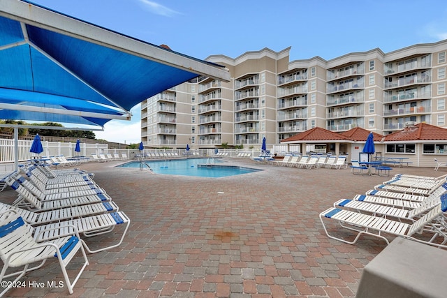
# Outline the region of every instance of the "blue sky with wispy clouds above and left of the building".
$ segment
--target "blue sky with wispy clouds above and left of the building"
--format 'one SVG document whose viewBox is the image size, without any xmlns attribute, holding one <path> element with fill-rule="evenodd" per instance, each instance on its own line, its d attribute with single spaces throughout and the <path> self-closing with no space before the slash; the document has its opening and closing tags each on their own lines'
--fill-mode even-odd
<svg viewBox="0 0 447 298">
<path fill-rule="evenodd" d="M 447 39 L 445 0 L 31 1 L 199 59 L 291 46 L 291 61 L 330 60 L 376 47 L 391 52 Z M 112 120 L 96 136 L 140 142 L 139 105 L 132 112 L 130 123 Z"/>
</svg>

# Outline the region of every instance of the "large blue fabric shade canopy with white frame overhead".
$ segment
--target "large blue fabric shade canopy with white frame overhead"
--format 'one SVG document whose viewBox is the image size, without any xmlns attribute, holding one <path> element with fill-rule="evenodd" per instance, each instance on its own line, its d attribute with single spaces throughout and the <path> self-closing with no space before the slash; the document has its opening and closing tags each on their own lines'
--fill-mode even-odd
<svg viewBox="0 0 447 298">
<path fill-rule="evenodd" d="M 0 119 L 104 126 L 201 75 L 186 60 L 223 72 L 31 1 L 2 0 L 0 11 Z"/>
</svg>

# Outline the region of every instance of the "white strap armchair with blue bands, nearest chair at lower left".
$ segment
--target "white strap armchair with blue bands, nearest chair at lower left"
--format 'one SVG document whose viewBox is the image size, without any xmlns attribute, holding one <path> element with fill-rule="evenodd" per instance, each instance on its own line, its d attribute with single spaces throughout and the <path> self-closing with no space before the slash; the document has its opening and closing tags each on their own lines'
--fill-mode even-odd
<svg viewBox="0 0 447 298">
<path fill-rule="evenodd" d="M 36 242 L 32 235 L 32 228 L 23 221 L 22 217 L 13 214 L 12 211 L 8 211 L 8 213 L 11 215 L 2 216 L 0 221 L 0 258 L 3 261 L 0 281 L 3 281 L 3 278 L 17 276 L 12 282 L 14 285 L 27 272 L 41 268 L 46 260 L 57 257 L 68 292 L 72 294 L 73 287 L 80 278 L 82 271 L 89 265 L 78 232 L 67 227 L 68 229 L 64 237 L 56 237 L 51 241 Z M 68 232 L 68 230 L 71 230 L 71 232 Z M 71 281 L 68 277 L 66 267 L 78 251 L 81 251 L 84 263 L 74 280 Z M 41 263 L 40 265 L 29 268 L 29 265 L 36 262 Z M 21 271 L 6 274 L 6 271 L 10 267 L 24 268 Z M 10 289 L 10 287 L 3 288 L 4 290 L 0 293 L 0 296 L 3 296 Z"/>
</svg>

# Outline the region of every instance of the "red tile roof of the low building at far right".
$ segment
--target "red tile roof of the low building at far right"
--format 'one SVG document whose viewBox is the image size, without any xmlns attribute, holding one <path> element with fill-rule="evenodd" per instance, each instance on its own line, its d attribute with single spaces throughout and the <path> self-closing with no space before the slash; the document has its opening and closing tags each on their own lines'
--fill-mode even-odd
<svg viewBox="0 0 447 298">
<path fill-rule="evenodd" d="M 415 126 L 404 128 L 402 131 L 391 133 L 384 139 L 385 142 L 416 140 L 447 140 L 447 129 L 420 123 Z"/>
</svg>

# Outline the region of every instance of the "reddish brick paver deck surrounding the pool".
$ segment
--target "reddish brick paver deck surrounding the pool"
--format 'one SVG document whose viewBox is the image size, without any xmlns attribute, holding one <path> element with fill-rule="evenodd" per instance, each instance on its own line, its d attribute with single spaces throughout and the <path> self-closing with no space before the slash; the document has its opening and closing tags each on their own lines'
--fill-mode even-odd
<svg viewBox="0 0 447 298">
<path fill-rule="evenodd" d="M 307 170 L 224 160 L 264 171 L 203 178 L 114 167 L 120 161 L 80 165 L 95 173 L 94 181 L 131 218 L 124 243 L 87 255 L 90 265 L 73 295 L 46 286 L 62 280 L 57 262 L 48 262 L 21 279 L 45 283 L 43 288 L 25 286 L 6 296 L 354 297 L 362 269 L 386 243 L 328 239 L 318 215 L 390 177 L 353 175 L 349 167 Z M 439 177 L 447 170 L 395 167 L 391 176 L 397 173 Z M 10 188 L 0 193 L 1 202 L 15 197 Z M 114 237 L 112 232 L 87 241 L 101 245 Z"/>
</svg>

